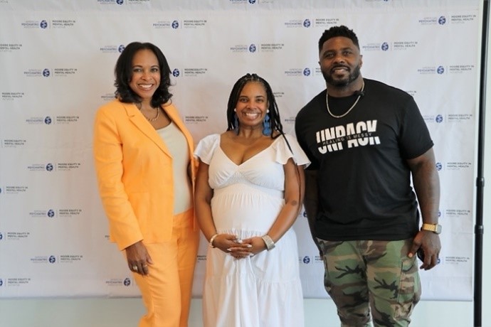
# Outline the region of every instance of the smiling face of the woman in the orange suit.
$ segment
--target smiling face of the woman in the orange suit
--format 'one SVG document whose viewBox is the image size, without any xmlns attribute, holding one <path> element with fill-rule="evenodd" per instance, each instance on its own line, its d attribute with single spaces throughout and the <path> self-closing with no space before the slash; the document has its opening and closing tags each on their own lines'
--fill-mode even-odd
<svg viewBox="0 0 491 327">
<path fill-rule="evenodd" d="M 130 87 L 143 102 L 152 100 L 155 90 L 160 85 L 160 68 L 157 56 L 149 49 L 134 53 L 132 60 L 132 77 Z"/>
</svg>

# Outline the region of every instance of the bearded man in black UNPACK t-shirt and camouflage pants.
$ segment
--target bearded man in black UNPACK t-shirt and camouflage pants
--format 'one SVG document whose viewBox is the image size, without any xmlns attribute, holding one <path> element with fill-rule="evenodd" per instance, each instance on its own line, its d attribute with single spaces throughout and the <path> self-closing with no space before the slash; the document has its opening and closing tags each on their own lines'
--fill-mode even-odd
<svg viewBox="0 0 491 327">
<path fill-rule="evenodd" d="M 441 247 L 433 141 L 411 95 L 361 77 L 352 30 L 324 31 L 319 58 L 327 89 L 295 132 L 312 161 L 304 203 L 324 286 L 342 326 L 408 326 L 421 296 L 415 254 L 431 269 Z"/>
</svg>

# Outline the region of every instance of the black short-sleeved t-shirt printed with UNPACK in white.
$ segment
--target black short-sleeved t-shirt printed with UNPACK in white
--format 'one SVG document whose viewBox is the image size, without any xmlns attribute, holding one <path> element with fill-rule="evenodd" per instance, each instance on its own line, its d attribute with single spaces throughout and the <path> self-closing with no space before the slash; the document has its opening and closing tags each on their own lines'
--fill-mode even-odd
<svg viewBox="0 0 491 327">
<path fill-rule="evenodd" d="M 364 79 L 364 95 L 344 117 L 327 112 L 324 90 L 297 114 L 297 139 L 318 171 L 317 237 L 403 240 L 418 231 L 418 204 L 407 159 L 433 141 L 413 97 Z M 357 96 L 329 97 L 332 114 Z"/>
</svg>

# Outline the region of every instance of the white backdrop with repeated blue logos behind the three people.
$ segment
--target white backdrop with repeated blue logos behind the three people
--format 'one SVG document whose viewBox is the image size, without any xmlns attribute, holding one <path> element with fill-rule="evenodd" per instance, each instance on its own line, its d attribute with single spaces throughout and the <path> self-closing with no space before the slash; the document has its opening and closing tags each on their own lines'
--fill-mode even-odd
<svg viewBox="0 0 491 327">
<path fill-rule="evenodd" d="M 423 299 L 471 301 L 481 16 L 478 0 L 0 0 L 0 298 L 139 294 L 108 240 L 92 157 L 94 114 L 114 97 L 127 43 L 163 50 L 196 142 L 225 131 L 245 73 L 270 82 L 294 134 L 295 115 L 325 87 L 317 41 L 344 24 L 364 77 L 413 95 L 435 141 L 443 250 L 421 272 Z M 305 297 L 327 297 L 304 215 L 294 228 Z"/>
</svg>

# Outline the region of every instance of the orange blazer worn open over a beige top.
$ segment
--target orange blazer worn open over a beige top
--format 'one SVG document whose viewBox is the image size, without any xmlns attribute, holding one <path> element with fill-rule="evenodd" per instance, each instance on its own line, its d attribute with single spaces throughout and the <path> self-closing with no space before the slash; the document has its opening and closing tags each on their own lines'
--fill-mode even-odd
<svg viewBox="0 0 491 327">
<path fill-rule="evenodd" d="M 194 188 L 193 139 L 174 105 L 164 110 L 186 137 Z M 140 240 L 170 240 L 174 196 L 179 196 L 174 194 L 172 156 L 136 105 L 114 100 L 97 110 L 94 158 L 110 240 L 120 250 Z"/>
</svg>

